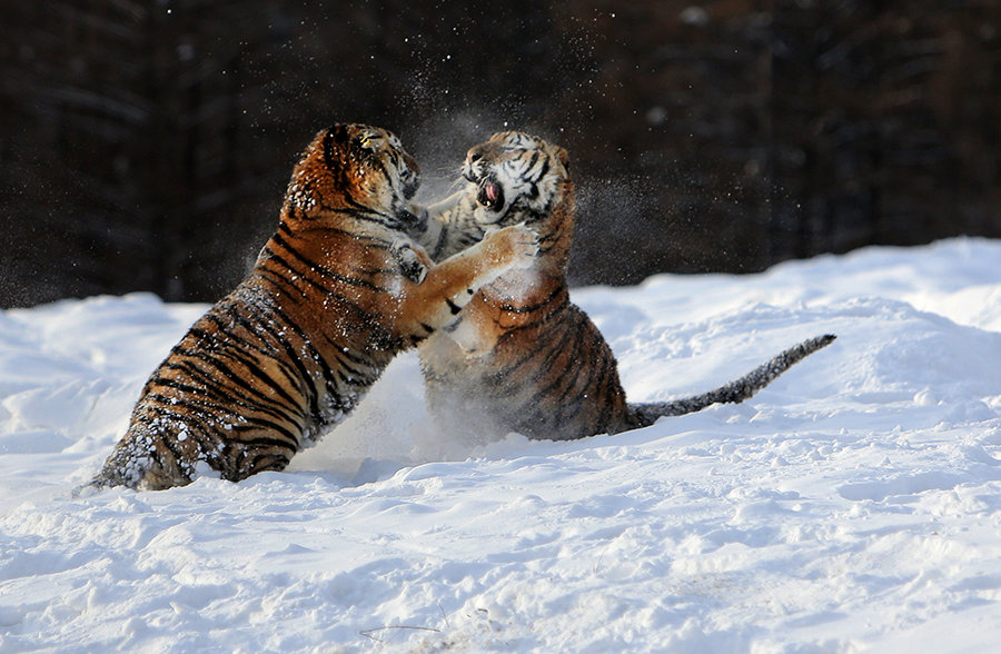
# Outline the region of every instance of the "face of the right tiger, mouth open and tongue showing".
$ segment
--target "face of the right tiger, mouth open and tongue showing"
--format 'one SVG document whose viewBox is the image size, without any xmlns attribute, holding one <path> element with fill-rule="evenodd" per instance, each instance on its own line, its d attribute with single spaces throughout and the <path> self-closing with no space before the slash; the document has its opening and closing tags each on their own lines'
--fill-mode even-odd
<svg viewBox="0 0 1001 654">
<path fill-rule="evenodd" d="M 559 146 L 521 131 L 495 133 L 470 148 L 463 165 L 463 177 L 477 188 L 474 219 L 511 225 L 548 212 L 568 166 Z"/>
</svg>

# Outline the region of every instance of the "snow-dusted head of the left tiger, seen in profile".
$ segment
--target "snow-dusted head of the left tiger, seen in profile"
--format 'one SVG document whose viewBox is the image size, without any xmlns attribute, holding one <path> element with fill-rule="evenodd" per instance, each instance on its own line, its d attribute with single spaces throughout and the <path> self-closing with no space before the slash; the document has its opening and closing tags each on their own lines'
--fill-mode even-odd
<svg viewBox="0 0 1001 654">
<path fill-rule="evenodd" d="M 340 211 L 400 229 L 414 219 L 408 200 L 420 168 L 390 131 L 338 123 L 319 131 L 293 169 L 284 214 L 316 218 Z"/>
</svg>

